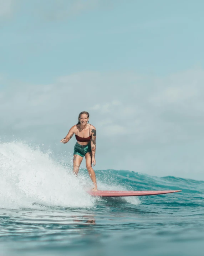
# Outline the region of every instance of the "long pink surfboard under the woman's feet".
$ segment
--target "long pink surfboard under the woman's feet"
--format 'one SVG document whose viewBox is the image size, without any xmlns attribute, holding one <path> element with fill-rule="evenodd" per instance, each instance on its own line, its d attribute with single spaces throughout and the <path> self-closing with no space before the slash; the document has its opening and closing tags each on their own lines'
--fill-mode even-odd
<svg viewBox="0 0 204 256">
<path fill-rule="evenodd" d="M 114 191 L 114 190 L 98 190 L 88 191 L 94 197 L 135 197 L 142 195 L 161 195 L 168 193 L 180 192 L 182 190 L 154 190 L 154 191 Z"/>
</svg>

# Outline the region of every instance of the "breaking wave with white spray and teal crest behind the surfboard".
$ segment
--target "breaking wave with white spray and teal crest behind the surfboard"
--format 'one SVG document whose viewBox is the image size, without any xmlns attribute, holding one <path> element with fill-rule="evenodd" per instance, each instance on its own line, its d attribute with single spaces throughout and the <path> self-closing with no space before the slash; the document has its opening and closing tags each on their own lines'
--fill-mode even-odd
<svg viewBox="0 0 204 256">
<path fill-rule="evenodd" d="M 1 208 L 92 208 L 98 202 L 97 198 L 86 193 L 86 190 L 92 188 L 86 170 L 80 170 L 78 177 L 75 177 L 70 164 L 53 160 L 50 152 L 43 153 L 39 148 L 23 142 L 0 144 L 0 175 Z M 203 181 L 172 176 L 159 178 L 128 170 L 111 169 L 98 170 L 96 175 L 98 188 L 101 190 L 182 189 L 182 194 L 177 198 L 183 198 L 183 204 L 189 201 L 192 206 L 193 201 L 190 201 L 189 194 L 196 195 L 201 201 L 204 197 Z M 141 200 L 147 204 L 159 202 L 158 199 Z M 124 198 L 121 202 L 131 205 L 141 203 L 137 197 Z M 177 203 L 175 202 L 175 206 Z"/>
</svg>

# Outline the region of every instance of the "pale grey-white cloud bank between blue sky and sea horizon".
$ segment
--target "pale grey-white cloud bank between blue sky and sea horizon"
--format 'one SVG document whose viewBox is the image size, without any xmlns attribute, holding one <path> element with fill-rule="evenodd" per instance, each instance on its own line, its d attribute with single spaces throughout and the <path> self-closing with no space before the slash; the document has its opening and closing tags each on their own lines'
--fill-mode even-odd
<svg viewBox="0 0 204 256">
<path fill-rule="evenodd" d="M 58 141 L 78 113 L 88 111 L 97 129 L 99 169 L 204 179 L 203 82 L 203 70 L 163 78 L 87 71 L 39 85 L 7 80 L 0 91 L 0 132 L 61 151 Z"/>
</svg>

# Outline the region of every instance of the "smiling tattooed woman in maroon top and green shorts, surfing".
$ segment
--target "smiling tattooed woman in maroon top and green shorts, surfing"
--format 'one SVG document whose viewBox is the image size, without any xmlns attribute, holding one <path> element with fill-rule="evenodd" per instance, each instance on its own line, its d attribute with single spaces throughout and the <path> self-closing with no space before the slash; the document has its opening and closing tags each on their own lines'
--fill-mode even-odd
<svg viewBox="0 0 204 256">
<path fill-rule="evenodd" d="M 91 164 L 93 166 L 96 164 L 96 128 L 88 124 L 88 119 L 89 113 L 86 111 L 81 112 L 78 116 L 77 125 L 72 126 L 67 136 L 60 142 L 67 143 L 75 134 L 77 143 L 74 148 L 73 172 L 78 174 L 80 164 L 85 156 L 86 168 L 94 185 L 92 191 L 97 191 L 96 174 L 91 166 Z"/>
</svg>

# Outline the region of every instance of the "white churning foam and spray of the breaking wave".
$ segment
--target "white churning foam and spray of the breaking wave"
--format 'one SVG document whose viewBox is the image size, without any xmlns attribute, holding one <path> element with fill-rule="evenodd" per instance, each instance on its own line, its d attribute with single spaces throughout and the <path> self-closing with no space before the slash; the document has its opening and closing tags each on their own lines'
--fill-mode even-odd
<svg viewBox="0 0 204 256">
<path fill-rule="evenodd" d="M 0 144 L 0 208 L 93 207 L 96 199 L 86 190 L 92 187 L 90 178 L 73 175 L 54 161 L 49 153 L 22 142 Z M 104 184 L 101 190 L 126 190 L 122 186 Z M 126 198 L 138 204 L 137 198 Z"/>
</svg>

